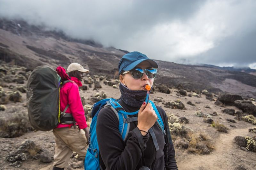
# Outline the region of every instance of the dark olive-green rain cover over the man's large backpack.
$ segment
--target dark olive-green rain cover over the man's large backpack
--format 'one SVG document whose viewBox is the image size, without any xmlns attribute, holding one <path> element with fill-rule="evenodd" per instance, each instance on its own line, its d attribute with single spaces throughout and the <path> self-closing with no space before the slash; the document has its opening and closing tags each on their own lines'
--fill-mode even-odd
<svg viewBox="0 0 256 170">
<path fill-rule="evenodd" d="M 28 78 L 28 118 L 37 130 L 50 131 L 60 122 L 60 81 L 57 71 L 49 66 L 36 67 Z"/>
</svg>

